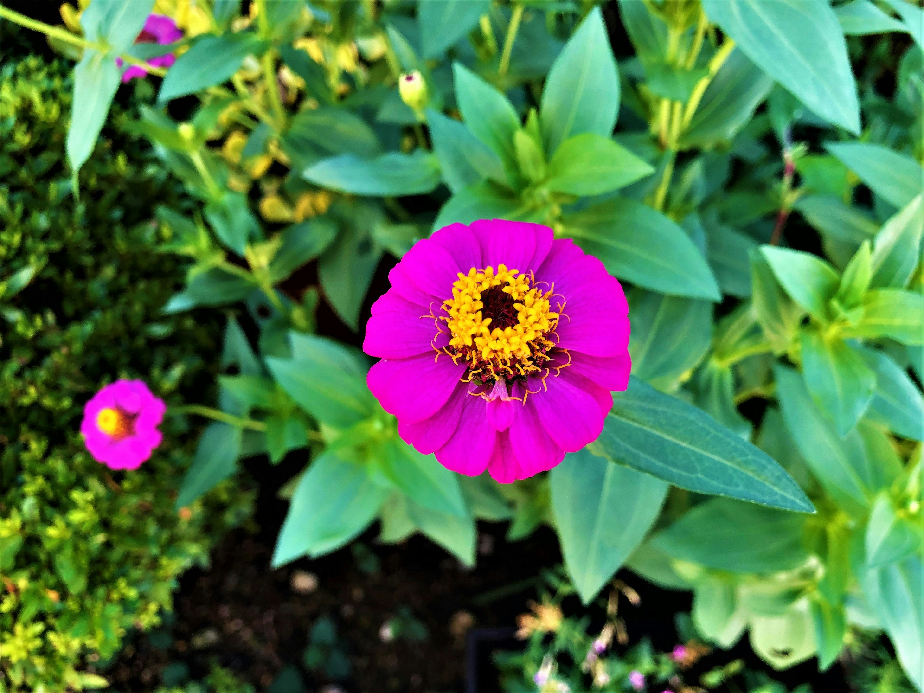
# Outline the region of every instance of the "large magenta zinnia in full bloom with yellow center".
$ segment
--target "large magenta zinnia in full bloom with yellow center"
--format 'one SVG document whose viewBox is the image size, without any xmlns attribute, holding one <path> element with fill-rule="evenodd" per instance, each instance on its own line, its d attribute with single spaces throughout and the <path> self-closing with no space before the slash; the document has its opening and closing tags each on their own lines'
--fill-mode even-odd
<svg viewBox="0 0 924 693">
<path fill-rule="evenodd" d="M 495 219 L 440 229 L 388 278 L 366 326 L 363 349 L 382 359 L 368 383 L 420 453 L 509 483 L 600 435 L 631 369 L 626 296 L 601 261 Z"/>
</svg>

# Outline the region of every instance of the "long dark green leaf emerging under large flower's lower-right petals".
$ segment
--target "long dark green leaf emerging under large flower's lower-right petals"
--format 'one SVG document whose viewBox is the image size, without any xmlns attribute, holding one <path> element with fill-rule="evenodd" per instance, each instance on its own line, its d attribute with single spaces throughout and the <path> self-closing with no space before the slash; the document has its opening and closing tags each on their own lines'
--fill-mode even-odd
<svg viewBox="0 0 924 693">
<path fill-rule="evenodd" d="M 812 512 L 805 493 L 770 456 L 708 414 L 633 377 L 615 394 L 590 451 L 699 493 Z"/>
</svg>

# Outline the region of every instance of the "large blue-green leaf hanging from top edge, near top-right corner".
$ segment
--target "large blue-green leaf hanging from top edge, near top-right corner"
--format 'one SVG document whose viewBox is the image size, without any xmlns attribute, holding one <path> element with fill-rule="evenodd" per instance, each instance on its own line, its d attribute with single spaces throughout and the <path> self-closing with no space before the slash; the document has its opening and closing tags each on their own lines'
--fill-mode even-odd
<svg viewBox="0 0 924 693">
<path fill-rule="evenodd" d="M 857 82 L 828 3 L 704 0 L 703 9 L 742 53 L 809 109 L 859 134 Z"/>
</svg>

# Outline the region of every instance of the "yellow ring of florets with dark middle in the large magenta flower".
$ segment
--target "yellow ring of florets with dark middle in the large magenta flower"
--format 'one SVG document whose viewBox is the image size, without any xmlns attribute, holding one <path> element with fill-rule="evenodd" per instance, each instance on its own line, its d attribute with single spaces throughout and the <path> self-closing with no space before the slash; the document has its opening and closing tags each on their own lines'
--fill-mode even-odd
<svg viewBox="0 0 924 693">
<path fill-rule="evenodd" d="M 543 371 L 549 339 L 558 325 L 550 300 L 553 289 L 532 286 L 532 277 L 493 267 L 458 274 L 453 298 L 443 302 L 448 315 L 447 353 L 468 363 L 468 377 L 482 382 L 510 380 Z M 557 341 L 557 340 L 556 340 Z"/>
</svg>

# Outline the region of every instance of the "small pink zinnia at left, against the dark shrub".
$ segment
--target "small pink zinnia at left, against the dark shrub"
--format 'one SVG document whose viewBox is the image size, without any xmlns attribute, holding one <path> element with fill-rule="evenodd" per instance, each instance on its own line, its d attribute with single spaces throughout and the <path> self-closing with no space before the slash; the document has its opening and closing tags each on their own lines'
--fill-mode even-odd
<svg viewBox="0 0 924 693">
<path fill-rule="evenodd" d="M 110 469 L 137 469 L 161 444 L 157 426 L 166 408 L 140 380 L 106 385 L 83 407 L 84 444 Z"/>
</svg>

